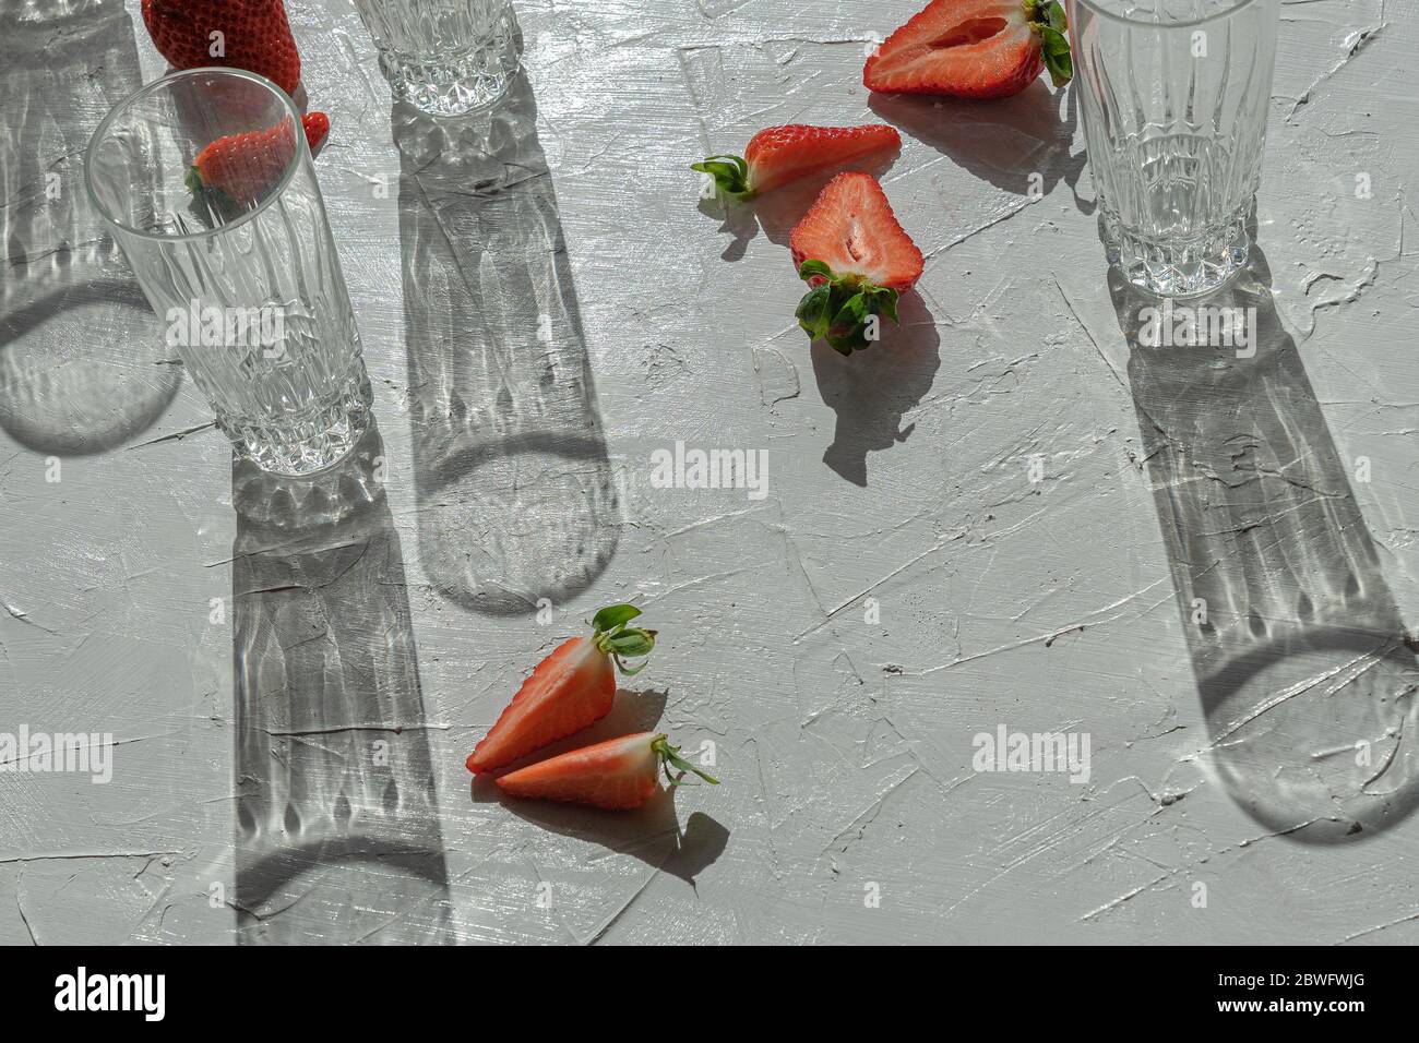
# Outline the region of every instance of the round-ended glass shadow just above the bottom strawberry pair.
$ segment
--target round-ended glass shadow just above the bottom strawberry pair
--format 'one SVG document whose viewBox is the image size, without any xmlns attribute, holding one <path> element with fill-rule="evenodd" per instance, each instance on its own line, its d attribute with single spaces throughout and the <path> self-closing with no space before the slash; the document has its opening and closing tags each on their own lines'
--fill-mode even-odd
<svg viewBox="0 0 1419 1043">
<path fill-rule="evenodd" d="M 475 612 L 562 603 L 616 552 L 620 504 L 532 85 L 392 123 L 424 572 Z"/>
</svg>

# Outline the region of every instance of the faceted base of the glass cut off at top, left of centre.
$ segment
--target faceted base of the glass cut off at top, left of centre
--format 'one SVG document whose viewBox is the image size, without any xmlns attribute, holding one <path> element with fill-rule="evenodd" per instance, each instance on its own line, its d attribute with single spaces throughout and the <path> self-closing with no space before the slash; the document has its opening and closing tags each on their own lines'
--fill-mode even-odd
<svg viewBox="0 0 1419 1043">
<path fill-rule="evenodd" d="M 431 116 L 460 116 L 507 94 L 518 71 L 517 23 L 509 10 L 463 57 L 420 60 L 380 51 L 379 67 L 397 101 Z"/>
</svg>

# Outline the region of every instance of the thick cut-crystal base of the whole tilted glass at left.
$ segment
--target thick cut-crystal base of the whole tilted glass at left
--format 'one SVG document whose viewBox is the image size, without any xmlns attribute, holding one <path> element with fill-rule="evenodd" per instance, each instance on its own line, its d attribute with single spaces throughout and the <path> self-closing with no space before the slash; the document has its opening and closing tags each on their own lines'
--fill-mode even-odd
<svg viewBox="0 0 1419 1043">
<path fill-rule="evenodd" d="M 258 423 L 243 417 L 217 417 L 241 460 L 263 471 L 309 477 L 333 467 L 350 454 L 370 423 L 375 402 L 369 376 L 360 363 L 345 392 L 329 406 L 298 423 Z"/>
</svg>

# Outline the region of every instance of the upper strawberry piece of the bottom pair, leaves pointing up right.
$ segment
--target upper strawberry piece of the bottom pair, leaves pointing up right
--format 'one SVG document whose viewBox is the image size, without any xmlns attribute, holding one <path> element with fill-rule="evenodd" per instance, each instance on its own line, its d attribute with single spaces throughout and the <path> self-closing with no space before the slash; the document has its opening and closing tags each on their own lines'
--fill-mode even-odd
<svg viewBox="0 0 1419 1043">
<path fill-rule="evenodd" d="M 468 755 L 468 771 L 497 771 L 606 717 L 616 698 L 616 668 L 639 674 L 646 667 L 627 667 L 622 657 L 648 656 L 656 647 L 654 630 L 626 626 L 639 614 L 634 605 L 610 605 L 592 619 L 590 637 L 556 646 Z"/>
</svg>

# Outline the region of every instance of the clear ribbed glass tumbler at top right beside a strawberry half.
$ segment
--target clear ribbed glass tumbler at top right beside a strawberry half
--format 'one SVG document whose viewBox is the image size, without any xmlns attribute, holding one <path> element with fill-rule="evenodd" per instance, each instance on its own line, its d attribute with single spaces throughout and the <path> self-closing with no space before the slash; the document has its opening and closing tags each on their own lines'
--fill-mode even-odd
<svg viewBox="0 0 1419 1043">
<path fill-rule="evenodd" d="M 1280 0 L 1069 0 L 1108 260 L 1161 297 L 1247 258 Z"/>
</svg>

